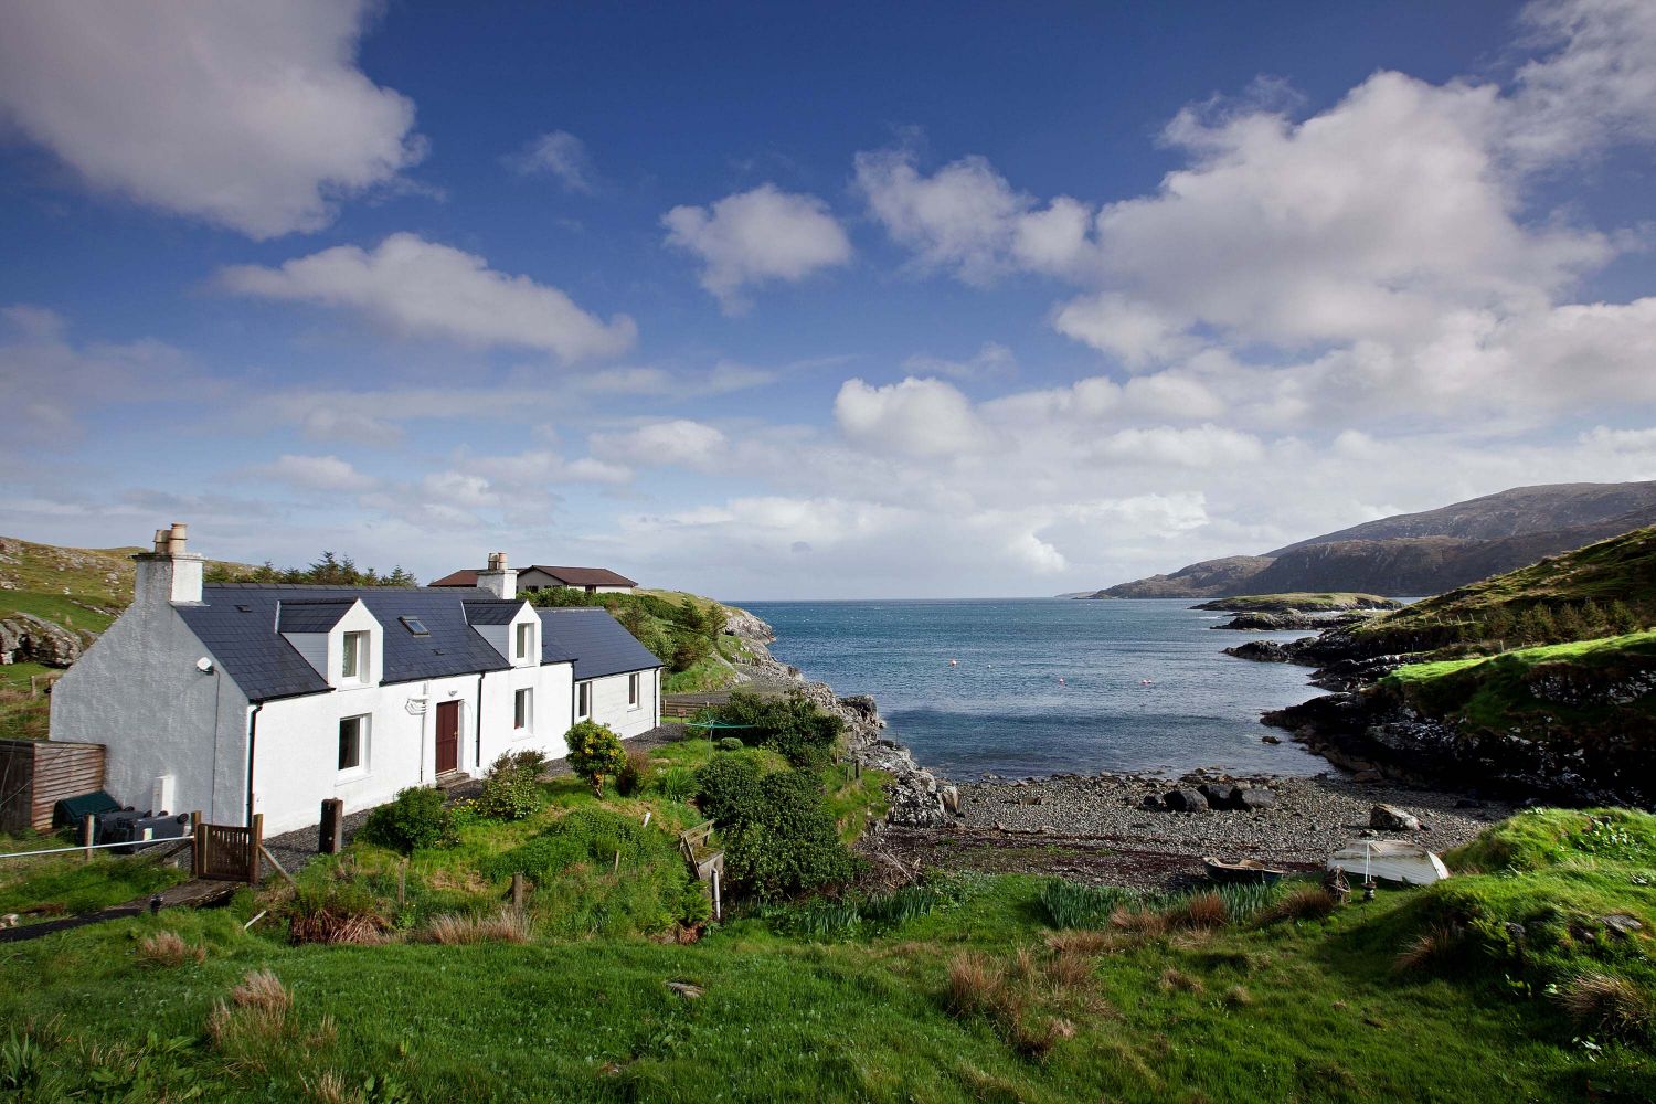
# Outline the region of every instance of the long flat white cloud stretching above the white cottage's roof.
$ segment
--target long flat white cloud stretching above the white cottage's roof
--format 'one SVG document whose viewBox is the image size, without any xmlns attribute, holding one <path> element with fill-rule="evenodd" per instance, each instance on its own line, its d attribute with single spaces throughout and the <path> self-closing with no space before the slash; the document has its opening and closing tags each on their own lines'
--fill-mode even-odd
<svg viewBox="0 0 1656 1104">
<path fill-rule="evenodd" d="M 638 338 L 626 314 L 603 323 L 558 288 L 412 233 L 392 233 L 373 252 L 336 245 L 280 268 L 235 265 L 220 270 L 219 283 L 238 295 L 349 308 L 409 338 L 542 349 L 565 362 L 618 356 Z"/>
</svg>

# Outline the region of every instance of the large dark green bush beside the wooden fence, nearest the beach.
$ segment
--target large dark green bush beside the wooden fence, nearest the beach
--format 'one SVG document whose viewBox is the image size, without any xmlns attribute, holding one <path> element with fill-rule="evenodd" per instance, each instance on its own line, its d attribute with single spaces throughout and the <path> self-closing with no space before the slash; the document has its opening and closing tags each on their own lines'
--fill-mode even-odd
<svg viewBox="0 0 1656 1104">
<path fill-rule="evenodd" d="M 760 778 L 757 808 L 742 811 L 719 836 L 732 890 L 757 900 L 846 882 L 861 866 L 840 842 L 821 781 L 806 771 Z"/>
</svg>

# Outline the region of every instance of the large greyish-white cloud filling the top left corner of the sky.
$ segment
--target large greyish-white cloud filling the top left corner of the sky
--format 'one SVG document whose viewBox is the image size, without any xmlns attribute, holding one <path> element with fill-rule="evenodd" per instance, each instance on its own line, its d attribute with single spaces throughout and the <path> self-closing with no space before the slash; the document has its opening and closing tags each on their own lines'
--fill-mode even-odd
<svg viewBox="0 0 1656 1104">
<path fill-rule="evenodd" d="M 356 68 L 374 5 L 88 0 L 0 10 L 0 116 L 88 184 L 268 238 L 421 159 Z"/>
</svg>

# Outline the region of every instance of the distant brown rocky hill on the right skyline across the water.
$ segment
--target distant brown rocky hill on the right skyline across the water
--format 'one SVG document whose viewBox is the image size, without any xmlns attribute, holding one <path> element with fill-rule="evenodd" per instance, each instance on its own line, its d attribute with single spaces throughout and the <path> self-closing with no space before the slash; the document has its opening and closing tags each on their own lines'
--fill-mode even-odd
<svg viewBox="0 0 1656 1104">
<path fill-rule="evenodd" d="M 1283 591 L 1441 594 L 1656 523 L 1656 482 L 1519 487 L 1368 521 L 1264 556 L 1227 556 L 1093 598 L 1225 598 Z"/>
</svg>

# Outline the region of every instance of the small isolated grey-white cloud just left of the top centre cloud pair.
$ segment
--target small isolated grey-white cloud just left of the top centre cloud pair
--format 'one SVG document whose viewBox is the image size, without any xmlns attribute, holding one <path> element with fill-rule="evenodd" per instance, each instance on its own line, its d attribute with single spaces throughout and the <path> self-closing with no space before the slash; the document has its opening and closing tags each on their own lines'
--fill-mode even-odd
<svg viewBox="0 0 1656 1104">
<path fill-rule="evenodd" d="M 744 288 L 785 280 L 798 283 L 821 268 L 851 260 L 851 240 L 815 195 L 762 184 L 709 207 L 674 207 L 661 218 L 667 245 L 702 258 L 702 286 L 729 314 L 750 301 Z"/>
</svg>

